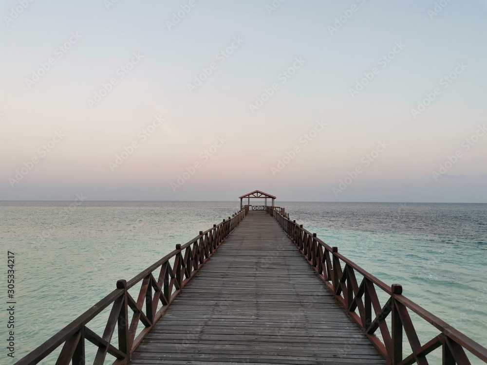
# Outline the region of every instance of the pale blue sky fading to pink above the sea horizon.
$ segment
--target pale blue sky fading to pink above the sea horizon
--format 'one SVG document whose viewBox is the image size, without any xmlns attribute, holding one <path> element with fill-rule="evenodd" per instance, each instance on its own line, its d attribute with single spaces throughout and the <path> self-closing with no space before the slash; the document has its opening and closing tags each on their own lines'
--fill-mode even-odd
<svg viewBox="0 0 487 365">
<path fill-rule="evenodd" d="M 0 16 L 0 200 L 487 202 L 485 0 Z"/>
</svg>

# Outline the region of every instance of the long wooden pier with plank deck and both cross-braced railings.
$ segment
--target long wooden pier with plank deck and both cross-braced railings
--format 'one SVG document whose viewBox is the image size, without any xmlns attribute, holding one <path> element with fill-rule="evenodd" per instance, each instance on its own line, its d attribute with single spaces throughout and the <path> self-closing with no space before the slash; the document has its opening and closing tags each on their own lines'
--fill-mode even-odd
<svg viewBox="0 0 487 365">
<path fill-rule="evenodd" d="M 44 364 L 57 348 L 56 365 L 425 365 L 434 350 L 444 365 L 487 363 L 485 347 L 402 295 L 400 285 L 387 286 L 282 208 L 251 209 L 119 280 L 16 365 Z M 377 291 L 388 299 L 381 303 Z M 90 321 L 105 309 L 97 334 Z M 437 336 L 421 343 L 411 312 Z M 97 348 L 92 357 L 87 342 Z"/>
</svg>

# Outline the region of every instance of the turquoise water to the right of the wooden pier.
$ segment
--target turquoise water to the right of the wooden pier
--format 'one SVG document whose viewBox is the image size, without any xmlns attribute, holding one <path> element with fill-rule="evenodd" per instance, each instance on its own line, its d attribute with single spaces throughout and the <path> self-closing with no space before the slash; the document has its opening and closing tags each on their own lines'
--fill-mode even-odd
<svg viewBox="0 0 487 365">
<path fill-rule="evenodd" d="M 404 295 L 487 347 L 487 204 L 287 206 L 291 219 L 386 284 L 401 284 Z M 411 316 L 421 344 L 439 333 Z M 441 364 L 440 354 L 432 353 L 430 364 Z"/>
</svg>

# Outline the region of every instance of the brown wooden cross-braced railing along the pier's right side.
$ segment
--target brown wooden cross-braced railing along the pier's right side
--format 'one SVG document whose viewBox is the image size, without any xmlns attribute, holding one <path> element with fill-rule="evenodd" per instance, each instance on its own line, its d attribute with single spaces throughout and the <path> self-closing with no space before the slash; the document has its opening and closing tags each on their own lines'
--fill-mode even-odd
<svg viewBox="0 0 487 365">
<path fill-rule="evenodd" d="M 442 347 L 443 365 L 470 364 L 466 351 L 487 363 L 487 348 L 402 295 L 400 285 L 389 287 L 339 254 L 337 247 L 328 246 L 316 234 L 304 229 L 302 224 L 296 223 L 296 220 L 291 221 L 288 214 L 282 215 L 281 211 L 267 207 L 267 212 L 279 222 L 321 280 L 389 364 L 427 365 L 426 355 L 439 347 Z M 357 276 L 361 277 L 360 284 Z M 387 295 L 388 300 L 384 306 L 379 303 L 376 289 Z M 439 330 L 439 334 L 421 344 L 410 311 Z M 389 325 L 386 321 L 388 316 L 391 320 Z M 377 330 L 382 340 L 375 335 Z M 412 353 L 407 356 L 403 354 L 403 334 L 406 334 L 412 348 Z"/>
</svg>

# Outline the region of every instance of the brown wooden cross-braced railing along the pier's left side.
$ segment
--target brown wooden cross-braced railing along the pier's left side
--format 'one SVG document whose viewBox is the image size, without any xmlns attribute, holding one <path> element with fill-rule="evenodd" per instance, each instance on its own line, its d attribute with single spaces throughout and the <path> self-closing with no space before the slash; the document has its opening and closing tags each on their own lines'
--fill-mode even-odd
<svg viewBox="0 0 487 365">
<path fill-rule="evenodd" d="M 152 266 L 128 282 L 117 281 L 117 289 L 81 314 L 44 344 L 37 347 L 15 365 L 34 365 L 45 359 L 62 345 L 56 365 L 85 365 L 86 341 L 98 349 L 94 365 L 103 365 L 107 354 L 116 360 L 114 365 L 124 365 L 142 339 L 164 314 L 172 301 L 188 281 L 220 247 L 224 239 L 240 224 L 248 208 L 235 213 L 220 224 L 213 225 L 184 245 L 161 258 Z M 171 264 L 172 261 L 172 264 Z M 129 290 L 140 285 L 136 298 Z M 100 336 L 87 325 L 103 310 L 112 306 L 103 334 Z M 131 314 L 131 317 L 129 316 Z M 137 327 L 144 328 L 137 334 Z M 116 330 L 116 334 L 115 334 Z M 118 346 L 112 345 L 112 337 L 118 337 Z"/>
</svg>

